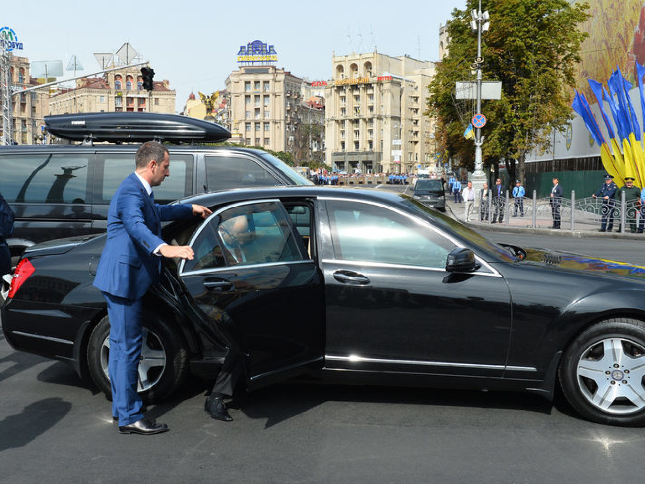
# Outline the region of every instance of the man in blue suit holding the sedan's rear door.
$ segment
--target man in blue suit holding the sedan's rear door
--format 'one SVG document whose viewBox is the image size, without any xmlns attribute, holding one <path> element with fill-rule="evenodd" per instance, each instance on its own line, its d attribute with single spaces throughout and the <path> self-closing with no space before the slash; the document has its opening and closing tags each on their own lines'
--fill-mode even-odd
<svg viewBox="0 0 645 484">
<path fill-rule="evenodd" d="M 143 401 L 137 394 L 143 295 L 159 280 L 162 256 L 193 258 L 192 248 L 161 239 L 161 221 L 206 218 L 211 211 L 201 205 L 154 203 L 152 187 L 170 175 L 168 150 L 161 143 L 145 143 L 135 161 L 135 172 L 121 182 L 110 201 L 108 234 L 94 285 L 103 292 L 110 318 L 112 416 L 119 420 L 119 433 L 149 435 L 168 427 L 143 417 Z"/>
</svg>

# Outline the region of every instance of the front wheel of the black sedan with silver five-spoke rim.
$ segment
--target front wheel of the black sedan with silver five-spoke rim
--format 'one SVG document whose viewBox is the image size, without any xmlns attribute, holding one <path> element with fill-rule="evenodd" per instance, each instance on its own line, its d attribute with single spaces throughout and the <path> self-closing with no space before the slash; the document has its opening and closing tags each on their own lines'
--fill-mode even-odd
<svg viewBox="0 0 645 484">
<path fill-rule="evenodd" d="M 645 424 L 645 323 L 606 319 L 587 328 L 562 357 L 564 396 L 584 418 L 608 425 Z"/>
</svg>

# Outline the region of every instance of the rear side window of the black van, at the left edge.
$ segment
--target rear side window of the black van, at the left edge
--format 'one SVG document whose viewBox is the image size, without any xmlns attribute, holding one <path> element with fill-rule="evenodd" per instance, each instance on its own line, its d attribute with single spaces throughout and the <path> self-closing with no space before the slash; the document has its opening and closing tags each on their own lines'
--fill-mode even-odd
<svg viewBox="0 0 645 484">
<path fill-rule="evenodd" d="M 9 203 L 89 203 L 88 156 L 10 154 L 2 156 L 0 192 Z"/>
</svg>

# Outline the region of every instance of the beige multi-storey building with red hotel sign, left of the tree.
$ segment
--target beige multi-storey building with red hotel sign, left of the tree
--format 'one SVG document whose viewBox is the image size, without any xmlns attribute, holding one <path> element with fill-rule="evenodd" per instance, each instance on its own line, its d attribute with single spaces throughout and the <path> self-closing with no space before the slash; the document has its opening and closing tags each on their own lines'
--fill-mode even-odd
<svg viewBox="0 0 645 484">
<path fill-rule="evenodd" d="M 433 163 L 423 115 L 434 63 L 379 52 L 333 57 L 326 81 L 326 164 L 348 173 L 412 173 Z M 421 165 L 421 166 L 420 166 Z"/>
</svg>

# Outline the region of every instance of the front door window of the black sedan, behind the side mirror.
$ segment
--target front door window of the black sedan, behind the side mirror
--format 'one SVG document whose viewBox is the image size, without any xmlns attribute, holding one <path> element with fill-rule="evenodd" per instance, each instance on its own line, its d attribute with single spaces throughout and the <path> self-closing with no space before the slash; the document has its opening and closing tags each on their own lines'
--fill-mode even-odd
<svg viewBox="0 0 645 484">
<path fill-rule="evenodd" d="M 430 227 L 367 203 L 328 201 L 335 259 L 444 268 L 457 247 Z"/>
</svg>

